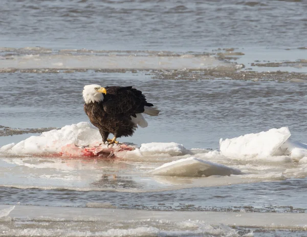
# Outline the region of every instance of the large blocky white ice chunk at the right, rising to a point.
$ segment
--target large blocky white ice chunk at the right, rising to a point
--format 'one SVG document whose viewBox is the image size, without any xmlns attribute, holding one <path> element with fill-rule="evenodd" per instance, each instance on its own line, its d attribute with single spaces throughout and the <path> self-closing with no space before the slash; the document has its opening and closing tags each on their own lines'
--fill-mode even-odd
<svg viewBox="0 0 307 237">
<path fill-rule="evenodd" d="M 272 128 L 267 132 L 246 134 L 237 138 L 220 139 L 221 154 L 227 157 L 274 156 L 291 136 L 288 127 Z"/>
</svg>

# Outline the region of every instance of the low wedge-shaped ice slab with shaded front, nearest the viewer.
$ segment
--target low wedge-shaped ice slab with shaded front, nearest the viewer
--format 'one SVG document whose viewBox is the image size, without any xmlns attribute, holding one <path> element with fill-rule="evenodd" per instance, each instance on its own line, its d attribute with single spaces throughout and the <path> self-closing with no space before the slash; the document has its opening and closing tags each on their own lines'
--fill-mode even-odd
<svg viewBox="0 0 307 237">
<path fill-rule="evenodd" d="M 211 175 L 242 175 L 243 173 L 238 169 L 231 168 L 226 165 L 201 160 L 195 157 L 189 157 L 166 163 L 150 171 L 150 174 L 184 177 L 208 177 Z"/>
</svg>

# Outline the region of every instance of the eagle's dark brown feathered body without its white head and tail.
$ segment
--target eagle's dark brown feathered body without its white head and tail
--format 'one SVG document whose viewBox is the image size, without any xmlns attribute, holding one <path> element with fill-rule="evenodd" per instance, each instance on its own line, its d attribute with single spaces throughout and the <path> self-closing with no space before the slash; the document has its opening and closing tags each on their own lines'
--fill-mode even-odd
<svg viewBox="0 0 307 237">
<path fill-rule="evenodd" d="M 105 142 L 110 133 L 119 138 L 132 136 L 137 125 L 131 116 L 144 112 L 147 103 L 141 91 L 132 87 L 105 87 L 103 101 L 84 104 L 84 111 L 91 123 L 99 129 L 102 141 Z"/>
</svg>

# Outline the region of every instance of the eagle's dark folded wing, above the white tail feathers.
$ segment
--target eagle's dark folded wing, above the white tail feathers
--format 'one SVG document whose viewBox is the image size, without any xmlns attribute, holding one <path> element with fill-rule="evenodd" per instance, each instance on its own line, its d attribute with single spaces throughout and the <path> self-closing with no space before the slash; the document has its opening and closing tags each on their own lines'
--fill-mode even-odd
<svg viewBox="0 0 307 237">
<path fill-rule="evenodd" d="M 103 110 L 112 115 L 135 115 L 144 112 L 146 102 L 141 91 L 132 87 L 106 87 Z"/>
</svg>

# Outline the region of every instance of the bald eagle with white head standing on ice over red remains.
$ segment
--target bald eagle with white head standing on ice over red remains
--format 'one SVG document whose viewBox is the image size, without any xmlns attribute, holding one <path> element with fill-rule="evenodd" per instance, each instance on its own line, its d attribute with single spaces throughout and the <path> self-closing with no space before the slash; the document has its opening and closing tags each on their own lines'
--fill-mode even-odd
<svg viewBox="0 0 307 237">
<path fill-rule="evenodd" d="M 132 87 L 85 85 L 82 95 L 84 111 L 99 129 L 103 143 L 118 144 L 117 138 L 132 136 L 138 125 L 148 125 L 143 113 L 157 116 L 160 112 L 146 101 L 141 91 Z M 110 133 L 113 139 L 107 139 Z"/>
</svg>

